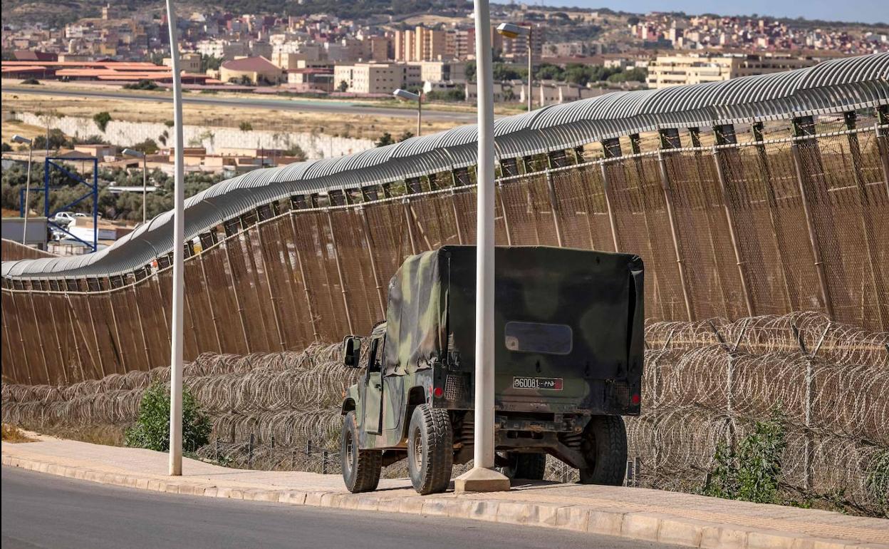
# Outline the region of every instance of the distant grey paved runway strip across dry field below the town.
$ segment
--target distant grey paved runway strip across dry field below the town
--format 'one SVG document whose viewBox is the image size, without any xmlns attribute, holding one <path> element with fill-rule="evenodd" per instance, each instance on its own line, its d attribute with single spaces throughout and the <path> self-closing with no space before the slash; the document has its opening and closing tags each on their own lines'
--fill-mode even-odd
<svg viewBox="0 0 889 549">
<path fill-rule="evenodd" d="M 41 95 L 59 95 L 66 97 L 98 97 L 102 99 L 116 99 L 123 101 L 172 102 L 172 95 L 123 93 L 112 90 L 107 92 L 100 90 L 60 90 L 47 89 L 43 86 L 5 85 L 3 91 L 6 93 L 39 93 Z M 182 96 L 182 101 L 186 104 L 191 103 L 197 105 L 299 110 L 300 112 L 329 112 L 334 114 L 379 115 L 386 117 L 417 117 L 417 112 L 413 109 L 374 107 L 371 105 L 362 105 L 359 102 L 350 103 L 346 101 L 291 101 L 286 99 L 259 99 L 252 97 L 214 97 L 212 95 L 195 95 L 192 93 L 184 94 Z M 423 109 L 423 119 L 453 123 L 472 123 L 476 121 L 476 113 Z"/>
</svg>

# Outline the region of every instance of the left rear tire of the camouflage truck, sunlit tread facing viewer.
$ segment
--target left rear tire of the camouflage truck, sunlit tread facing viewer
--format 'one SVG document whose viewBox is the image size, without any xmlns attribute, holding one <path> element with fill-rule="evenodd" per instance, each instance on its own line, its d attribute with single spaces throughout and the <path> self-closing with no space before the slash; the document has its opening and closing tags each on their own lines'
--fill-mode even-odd
<svg viewBox="0 0 889 549">
<path fill-rule="evenodd" d="M 407 432 L 407 471 L 420 494 L 444 492 L 451 481 L 453 431 L 447 410 L 421 404 Z"/>
</svg>

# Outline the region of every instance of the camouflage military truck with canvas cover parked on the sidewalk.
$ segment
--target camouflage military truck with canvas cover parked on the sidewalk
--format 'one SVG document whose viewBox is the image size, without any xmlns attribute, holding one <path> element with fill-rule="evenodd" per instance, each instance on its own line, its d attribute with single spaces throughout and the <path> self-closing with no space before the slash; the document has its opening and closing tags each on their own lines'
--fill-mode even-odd
<svg viewBox="0 0 889 549">
<path fill-rule="evenodd" d="M 629 254 L 497 247 L 495 461 L 540 480 L 546 455 L 581 482 L 619 485 L 627 462 L 621 416 L 637 416 L 643 367 L 643 263 Z M 364 368 L 342 403 L 342 474 L 373 490 L 407 458 L 413 488 L 444 491 L 473 454 L 475 246 L 409 257 L 388 286 L 386 320 L 343 341 Z"/>
</svg>

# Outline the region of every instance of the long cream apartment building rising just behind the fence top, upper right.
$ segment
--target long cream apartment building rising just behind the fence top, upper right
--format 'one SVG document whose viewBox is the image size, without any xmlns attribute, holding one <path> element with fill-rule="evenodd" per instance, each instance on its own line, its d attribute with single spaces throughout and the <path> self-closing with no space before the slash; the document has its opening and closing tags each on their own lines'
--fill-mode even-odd
<svg viewBox="0 0 889 549">
<path fill-rule="evenodd" d="M 818 60 L 773 55 L 662 55 L 648 67 L 649 88 L 722 82 L 811 67 Z"/>
</svg>

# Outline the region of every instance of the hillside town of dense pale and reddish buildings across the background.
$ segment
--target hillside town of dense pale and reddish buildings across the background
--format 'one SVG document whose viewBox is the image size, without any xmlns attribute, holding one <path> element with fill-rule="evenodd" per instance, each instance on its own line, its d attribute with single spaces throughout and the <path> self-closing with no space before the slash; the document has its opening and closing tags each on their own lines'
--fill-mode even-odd
<svg viewBox="0 0 889 549">
<path fill-rule="evenodd" d="M 473 101 L 475 29 L 470 13 L 394 20 L 193 12 L 180 19 L 184 83 L 276 87 L 289 93 L 388 96 L 396 87 L 428 99 Z M 493 22 L 531 29 L 514 38 L 493 32 L 505 70 L 496 101 L 525 104 L 528 56 L 541 104 L 584 99 L 602 90 L 694 84 L 795 69 L 843 55 L 889 51 L 889 28 L 814 26 L 766 17 L 626 15 L 496 6 Z M 169 83 L 166 19 L 159 12 L 118 12 L 61 28 L 40 21 L 4 24 L 3 77 Z M 580 39 L 579 39 L 580 38 Z M 597 78 L 565 77 L 583 65 Z M 560 78 L 561 77 L 561 78 Z"/>
</svg>

